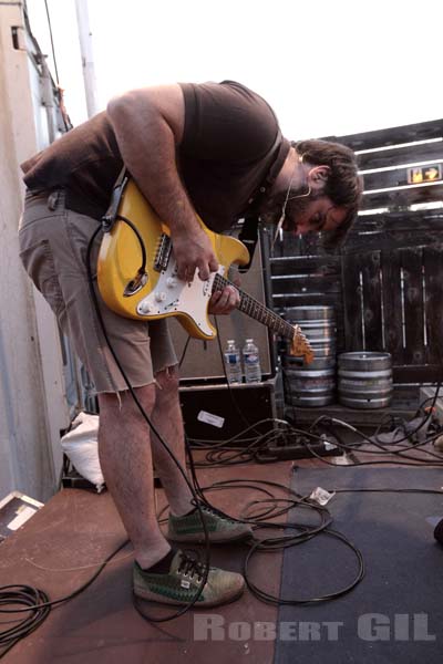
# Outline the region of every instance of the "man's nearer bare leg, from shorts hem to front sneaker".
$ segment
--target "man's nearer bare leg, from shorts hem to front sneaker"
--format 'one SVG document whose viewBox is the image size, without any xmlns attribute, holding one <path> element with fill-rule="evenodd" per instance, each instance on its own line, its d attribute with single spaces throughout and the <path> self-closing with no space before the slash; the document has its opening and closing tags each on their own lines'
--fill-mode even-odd
<svg viewBox="0 0 443 664">
<path fill-rule="evenodd" d="M 135 388 L 148 416 L 155 404 L 155 384 Z M 103 476 L 126 532 L 135 559 L 147 569 L 171 547 L 158 527 L 150 428 L 128 392 L 99 395 L 99 453 Z M 121 401 L 121 403 L 120 403 Z"/>
</svg>

